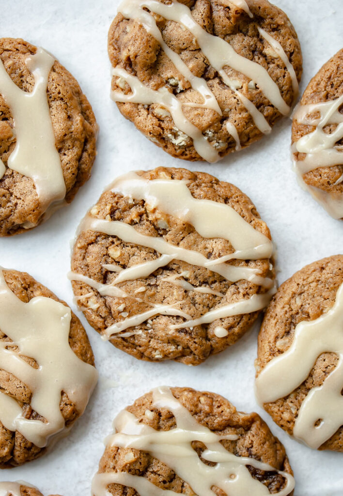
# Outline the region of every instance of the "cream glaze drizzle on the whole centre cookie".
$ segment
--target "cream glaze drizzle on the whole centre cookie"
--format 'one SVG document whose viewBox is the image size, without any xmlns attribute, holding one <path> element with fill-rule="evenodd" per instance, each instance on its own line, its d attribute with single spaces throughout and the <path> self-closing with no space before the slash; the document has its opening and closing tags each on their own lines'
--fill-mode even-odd
<svg viewBox="0 0 343 496">
<path fill-rule="evenodd" d="M 268 304 L 274 292 L 274 288 L 267 293 L 256 294 L 249 299 L 224 305 L 215 310 L 210 310 L 200 317 L 200 319 L 192 319 L 190 315 L 187 315 L 182 310 L 176 309 L 175 305 L 160 305 L 144 302 L 116 287 L 116 284 L 125 281 L 146 278 L 159 267 L 163 267 L 173 259 L 176 259 L 183 260 L 191 265 L 208 268 L 231 282 L 246 279 L 269 289 L 271 288 L 273 281 L 269 278 L 260 276 L 258 274 L 258 269 L 234 266 L 226 264 L 225 262 L 234 258 L 269 258 L 273 252 L 273 245 L 265 235 L 256 231 L 229 205 L 212 200 L 194 198 L 187 187 L 187 181 L 171 179 L 147 180 L 137 175 L 135 172 L 130 172 L 114 181 L 110 186 L 110 189 L 124 197 L 135 200 L 143 199 L 148 205 L 148 208 L 157 208 L 167 215 L 172 215 L 182 219 L 184 222 L 190 223 L 204 238 L 222 238 L 228 240 L 232 245 L 234 252 L 229 255 L 224 255 L 217 260 L 208 260 L 206 256 L 198 251 L 169 244 L 163 237 L 140 234 L 134 226 L 125 222 L 98 219 L 88 214 L 81 223 L 81 231 L 92 230 L 109 236 L 117 236 L 124 242 L 152 248 L 160 254 L 160 256 L 154 260 L 148 260 L 121 270 L 110 284 L 103 284 L 74 272 L 69 273 L 69 278 L 71 280 L 88 284 L 99 291 L 102 296 L 133 298 L 139 302 L 152 305 L 152 309 L 138 313 L 137 315 L 129 316 L 124 320 L 115 322 L 105 329 L 103 334 L 105 339 L 110 339 L 114 334 L 118 334 L 129 327 L 135 327 L 149 317 L 157 314 L 178 315 L 186 318 L 186 322 L 171 326 L 173 329 L 192 327 L 194 325 L 212 322 L 217 318 L 262 310 Z M 219 218 L 220 222 L 213 222 L 213 219 Z M 116 266 L 115 268 L 117 270 Z M 183 275 L 184 273 L 176 274 L 171 278 L 164 278 L 162 281 L 173 282 L 174 284 L 182 286 L 187 291 L 199 291 L 216 296 L 224 296 L 207 287 L 194 287 L 184 280 L 176 281 L 176 279 Z"/>
</svg>

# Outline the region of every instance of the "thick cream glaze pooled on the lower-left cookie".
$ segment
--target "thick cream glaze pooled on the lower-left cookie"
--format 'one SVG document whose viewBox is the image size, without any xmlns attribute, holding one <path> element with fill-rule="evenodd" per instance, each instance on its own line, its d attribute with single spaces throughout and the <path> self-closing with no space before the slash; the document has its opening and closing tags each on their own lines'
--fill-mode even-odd
<svg viewBox="0 0 343 496">
<path fill-rule="evenodd" d="M 0 329 L 19 348 L 17 353 L 7 349 L 10 342 L 0 341 L 1 369 L 28 386 L 32 409 L 46 419 L 24 418 L 20 404 L 0 392 L 0 422 L 39 447 L 66 431 L 61 392 L 81 415 L 97 381 L 95 368 L 82 362 L 69 346 L 70 318 L 69 307 L 52 298 L 35 297 L 23 303 L 10 291 L 0 269 Z M 39 368 L 31 367 L 22 356 L 33 358 Z"/>
</svg>

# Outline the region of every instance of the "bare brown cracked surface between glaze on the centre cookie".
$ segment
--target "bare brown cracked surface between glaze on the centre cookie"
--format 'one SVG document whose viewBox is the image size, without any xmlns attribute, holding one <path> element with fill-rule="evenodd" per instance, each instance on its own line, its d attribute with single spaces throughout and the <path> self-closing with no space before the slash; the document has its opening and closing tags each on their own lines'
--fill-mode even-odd
<svg viewBox="0 0 343 496">
<path fill-rule="evenodd" d="M 268 242 L 271 239 L 269 229 L 260 219 L 254 204 L 236 186 L 221 182 L 208 174 L 193 173 L 186 169 L 160 167 L 137 174 L 148 181 L 183 181 L 193 198 L 227 204 L 255 231 L 262 233 Z M 182 218 L 167 215 L 147 201 L 123 196 L 111 189 L 102 194 L 96 205 L 90 209 L 89 215 L 96 220 L 115 221 L 117 224 L 119 221 L 133 226 L 142 235 L 159 237 L 172 247 L 201 253 L 208 261 L 234 252 L 228 240 L 204 238 L 193 225 Z M 213 222 L 218 221 L 213 219 Z M 124 242 L 120 237 L 92 231 L 81 224 L 72 252 L 71 269 L 72 274 L 90 279 L 75 280 L 72 275 L 70 279 L 78 305 L 90 325 L 105 339 L 107 328 L 151 310 L 151 305 L 176 305 L 196 319 L 209 310 L 268 292 L 267 288 L 244 278 L 231 283 L 209 268 L 179 259 L 172 259 L 146 277 L 115 283 L 118 273 L 121 273 L 118 271 L 157 260 L 159 256 L 153 248 Z M 263 278 L 270 278 L 271 283 L 274 279 L 274 268 L 269 258 L 232 259 L 225 262 L 225 265 L 257 270 Z M 114 284 L 129 297 L 100 293 L 101 288 L 106 290 Z M 172 359 L 198 365 L 209 355 L 234 344 L 251 327 L 258 314 L 259 311 L 240 313 L 193 326 L 182 325 L 185 321 L 182 317 L 156 312 L 134 327 L 112 335 L 110 341 L 117 348 L 141 360 L 158 362 Z M 172 324 L 178 324 L 180 328 L 173 329 Z M 216 333 L 218 326 L 224 332 L 222 337 Z"/>
</svg>

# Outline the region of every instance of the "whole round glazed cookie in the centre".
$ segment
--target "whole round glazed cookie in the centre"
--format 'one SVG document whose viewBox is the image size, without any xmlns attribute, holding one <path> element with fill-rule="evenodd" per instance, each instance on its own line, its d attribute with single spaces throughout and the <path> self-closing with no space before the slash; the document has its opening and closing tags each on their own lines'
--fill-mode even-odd
<svg viewBox="0 0 343 496">
<path fill-rule="evenodd" d="M 271 298 L 269 229 L 237 187 L 186 169 L 118 178 L 79 228 L 69 277 L 88 322 L 141 360 L 198 365 Z"/>
</svg>

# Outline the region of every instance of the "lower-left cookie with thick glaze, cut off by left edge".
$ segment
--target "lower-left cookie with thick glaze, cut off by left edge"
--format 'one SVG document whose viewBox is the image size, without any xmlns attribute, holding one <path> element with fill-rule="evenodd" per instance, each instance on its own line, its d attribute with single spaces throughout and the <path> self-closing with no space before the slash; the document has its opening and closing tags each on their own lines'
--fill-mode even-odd
<svg viewBox="0 0 343 496">
<path fill-rule="evenodd" d="M 0 270 L 0 468 L 44 454 L 82 415 L 97 381 L 68 305 L 25 272 Z"/>
</svg>

